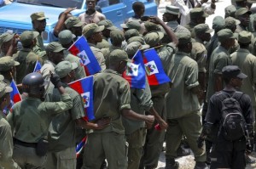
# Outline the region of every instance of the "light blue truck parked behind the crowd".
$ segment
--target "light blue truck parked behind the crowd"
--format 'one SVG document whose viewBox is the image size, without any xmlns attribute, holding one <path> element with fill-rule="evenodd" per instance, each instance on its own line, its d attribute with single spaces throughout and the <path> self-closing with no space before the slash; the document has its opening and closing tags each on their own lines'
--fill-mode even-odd
<svg viewBox="0 0 256 169">
<path fill-rule="evenodd" d="M 12 30 L 19 35 L 23 31 L 32 30 L 30 15 L 36 12 L 44 12 L 49 18 L 47 25 L 42 33 L 44 44 L 55 41 L 53 30 L 58 21 L 58 16 L 66 8 L 77 9 L 72 14 L 79 16 L 86 10 L 86 0 L 15 0 L 13 3 L 0 8 L 0 35 L 3 32 Z M 145 4 L 145 15 L 157 15 L 157 6 L 154 0 L 139 0 Z M 135 0 L 100 0 L 98 5 L 102 7 L 102 13 L 113 24 L 119 25 L 134 13 L 131 8 Z"/>
</svg>

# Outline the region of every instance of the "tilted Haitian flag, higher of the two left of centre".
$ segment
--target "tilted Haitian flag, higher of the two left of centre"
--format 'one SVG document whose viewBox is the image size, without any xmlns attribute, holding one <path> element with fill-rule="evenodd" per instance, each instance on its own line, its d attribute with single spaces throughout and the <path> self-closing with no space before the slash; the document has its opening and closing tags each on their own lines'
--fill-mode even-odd
<svg viewBox="0 0 256 169">
<path fill-rule="evenodd" d="M 68 51 L 75 56 L 79 56 L 82 64 L 84 65 L 84 70 L 87 76 L 94 75 L 102 70 L 83 36 L 79 37 L 79 39 L 74 42 L 70 48 L 68 48 Z"/>
</svg>

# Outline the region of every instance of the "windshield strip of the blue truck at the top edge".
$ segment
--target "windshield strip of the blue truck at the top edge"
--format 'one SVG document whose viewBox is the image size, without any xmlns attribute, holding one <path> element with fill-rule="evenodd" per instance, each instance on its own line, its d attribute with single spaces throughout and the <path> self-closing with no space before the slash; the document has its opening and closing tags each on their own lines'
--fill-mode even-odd
<svg viewBox="0 0 256 169">
<path fill-rule="evenodd" d="M 16 2 L 59 8 L 81 8 L 84 0 L 17 0 Z"/>
</svg>

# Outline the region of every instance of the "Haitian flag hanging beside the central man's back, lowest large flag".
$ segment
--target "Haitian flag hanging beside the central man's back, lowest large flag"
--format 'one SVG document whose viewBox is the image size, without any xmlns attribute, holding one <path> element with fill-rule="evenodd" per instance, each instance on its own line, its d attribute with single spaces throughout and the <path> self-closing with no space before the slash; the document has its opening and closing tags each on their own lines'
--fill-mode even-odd
<svg viewBox="0 0 256 169">
<path fill-rule="evenodd" d="M 84 120 L 94 120 L 95 116 L 93 111 L 93 76 L 84 77 L 75 82 L 70 82 L 68 85 L 79 94 L 81 94 L 86 114 Z"/>
</svg>

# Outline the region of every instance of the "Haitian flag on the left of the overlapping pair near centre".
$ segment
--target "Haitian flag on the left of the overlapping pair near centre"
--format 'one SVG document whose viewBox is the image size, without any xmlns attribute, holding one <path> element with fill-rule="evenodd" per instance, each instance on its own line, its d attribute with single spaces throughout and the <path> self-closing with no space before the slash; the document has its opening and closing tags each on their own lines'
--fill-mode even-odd
<svg viewBox="0 0 256 169">
<path fill-rule="evenodd" d="M 131 88 L 145 88 L 146 73 L 143 64 L 143 54 L 140 50 L 134 54 L 132 62 L 127 63 L 123 77 L 129 82 Z"/>
</svg>

